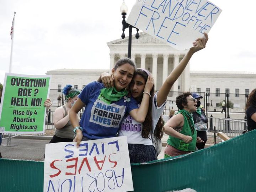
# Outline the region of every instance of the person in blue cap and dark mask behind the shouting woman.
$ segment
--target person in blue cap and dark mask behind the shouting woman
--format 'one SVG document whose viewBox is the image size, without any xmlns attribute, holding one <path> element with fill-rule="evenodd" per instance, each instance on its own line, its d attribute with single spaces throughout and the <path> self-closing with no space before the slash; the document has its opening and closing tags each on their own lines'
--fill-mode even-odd
<svg viewBox="0 0 256 192">
<path fill-rule="evenodd" d="M 193 120 L 194 120 L 194 125 L 197 130 L 197 137 L 200 137 L 203 142 L 202 143 L 197 143 L 197 149 L 203 149 L 204 145 L 206 144 L 207 141 L 207 117 L 204 114 L 203 109 L 200 107 L 201 106 L 201 101 L 200 99 L 203 98 L 203 96 L 198 95 L 198 93 L 192 93 L 192 97 L 194 97 L 197 100 L 197 111 L 193 112 Z"/>
</svg>

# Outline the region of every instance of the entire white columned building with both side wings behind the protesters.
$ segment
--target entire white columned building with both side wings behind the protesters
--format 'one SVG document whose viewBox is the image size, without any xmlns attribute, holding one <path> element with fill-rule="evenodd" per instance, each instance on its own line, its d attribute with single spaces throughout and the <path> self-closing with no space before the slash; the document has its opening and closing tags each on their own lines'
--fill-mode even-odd
<svg viewBox="0 0 256 192">
<path fill-rule="evenodd" d="M 57 69 L 47 71 L 47 75 L 52 75 L 50 85 L 50 97 L 53 105 L 57 103 L 57 96 L 61 94 L 66 84 L 71 84 L 75 89 L 81 90 L 89 82 L 98 79 L 101 73 L 110 72 L 119 58 L 127 57 L 128 37 L 117 39 L 107 43 L 110 48 L 110 68 L 109 70 L 89 70 L 89 69 Z M 137 68 L 148 69 L 154 76 L 155 90 L 159 90 L 171 71 L 178 65 L 186 54 L 185 51 L 178 51 L 158 39 L 140 33 L 140 38 L 132 37 L 131 59 L 135 61 Z M 208 94 L 208 105 L 212 108 L 218 107 L 220 101 L 225 100 L 225 93 L 234 94 L 230 97 L 234 107 L 244 108 L 245 98 L 242 94 L 249 94 L 256 88 L 256 73 L 234 72 L 234 71 L 190 71 L 189 63 L 175 82 L 167 103 L 167 108 L 176 109 L 175 97 L 178 92 L 204 92 Z M 240 96 L 241 95 L 241 96 Z M 233 98 L 234 97 L 234 98 Z M 204 102 L 204 99 L 202 100 Z M 218 111 L 218 110 L 217 110 Z"/>
</svg>

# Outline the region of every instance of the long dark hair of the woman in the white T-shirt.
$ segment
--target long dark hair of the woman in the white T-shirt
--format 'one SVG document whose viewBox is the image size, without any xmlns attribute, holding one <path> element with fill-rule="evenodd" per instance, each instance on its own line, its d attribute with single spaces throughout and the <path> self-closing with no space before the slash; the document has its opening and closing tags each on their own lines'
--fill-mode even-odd
<svg viewBox="0 0 256 192">
<path fill-rule="evenodd" d="M 136 73 L 134 74 L 134 77 L 136 75 L 140 75 L 142 76 L 142 78 L 145 80 L 145 82 L 148 80 L 148 74 L 146 74 L 145 71 L 141 70 L 141 69 L 137 69 L 136 70 Z M 129 85 L 129 89 L 130 90 L 130 87 L 132 86 L 133 84 L 131 83 Z M 142 137 L 143 138 L 149 138 L 149 135 L 151 134 L 151 130 L 152 130 L 152 122 L 153 122 L 153 119 L 152 119 L 152 100 L 154 98 L 154 92 L 155 92 L 155 85 L 153 85 L 151 91 L 150 91 L 150 101 L 149 101 L 149 109 L 148 109 L 148 113 L 146 114 L 146 118 L 145 118 L 145 121 L 143 122 L 143 127 L 142 127 Z M 142 97 L 140 98 L 140 101 L 142 101 Z M 155 131 L 154 131 L 154 135 L 156 135 L 157 138 L 161 139 L 164 135 L 164 121 L 162 119 L 162 117 L 159 118 L 158 120 L 158 123 L 156 124 L 156 128 L 155 128 Z"/>
</svg>

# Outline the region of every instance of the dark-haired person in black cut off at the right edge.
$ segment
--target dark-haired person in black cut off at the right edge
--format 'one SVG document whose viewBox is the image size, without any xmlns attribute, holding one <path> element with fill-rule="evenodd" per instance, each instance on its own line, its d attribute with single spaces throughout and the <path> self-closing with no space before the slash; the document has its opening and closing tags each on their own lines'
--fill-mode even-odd
<svg viewBox="0 0 256 192">
<path fill-rule="evenodd" d="M 245 105 L 248 131 L 256 129 L 256 89 L 252 90 Z"/>
</svg>

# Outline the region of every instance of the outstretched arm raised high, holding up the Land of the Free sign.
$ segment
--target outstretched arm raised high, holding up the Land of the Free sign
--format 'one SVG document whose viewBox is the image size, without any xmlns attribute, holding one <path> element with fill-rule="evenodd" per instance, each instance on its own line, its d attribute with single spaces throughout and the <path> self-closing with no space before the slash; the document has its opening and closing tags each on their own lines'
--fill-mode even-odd
<svg viewBox="0 0 256 192">
<path fill-rule="evenodd" d="M 172 85 L 174 82 L 179 78 L 182 71 L 186 68 L 190 58 L 194 53 L 197 51 L 205 48 L 206 43 L 208 41 L 207 33 L 204 33 L 205 38 L 198 38 L 195 42 L 193 42 L 193 47 L 191 47 L 188 52 L 186 53 L 185 57 L 181 60 L 181 62 L 176 66 L 174 70 L 170 73 L 170 75 L 166 78 L 164 84 L 160 87 L 157 96 L 157 105 L 161 106 L 165 101 L 166 98 L 171 90 Z"/>
</svg>

